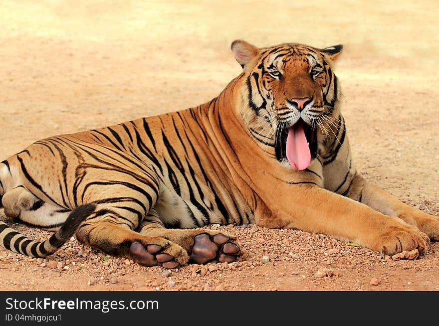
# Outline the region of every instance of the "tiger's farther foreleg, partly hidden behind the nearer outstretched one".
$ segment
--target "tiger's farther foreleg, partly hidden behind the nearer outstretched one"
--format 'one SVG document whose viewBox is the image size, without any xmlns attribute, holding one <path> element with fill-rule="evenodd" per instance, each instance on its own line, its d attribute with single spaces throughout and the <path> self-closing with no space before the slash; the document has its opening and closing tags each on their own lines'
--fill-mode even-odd
<svg viewBox="0 0 439 326">
<path fill-rule="evenodd" d="M 359 174 L 355 175 L 347 196 L 383 214 L 397 216 L 406 223 L 416 225 L 430 239 L 439 240 L 438 217 L 401 202 L 387 191 L 366 181 Z"/>
</svg>

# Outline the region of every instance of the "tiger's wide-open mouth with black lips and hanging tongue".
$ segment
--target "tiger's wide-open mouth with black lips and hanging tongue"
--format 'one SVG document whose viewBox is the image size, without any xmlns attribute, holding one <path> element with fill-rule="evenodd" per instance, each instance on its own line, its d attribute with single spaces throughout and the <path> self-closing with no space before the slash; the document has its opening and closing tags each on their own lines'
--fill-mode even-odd
<svg viewBox="0 0 439 326">
<path fill-rule="evenodd" d="M 296 170 L 304 170 L 317 156 L 317 129 L 299 119 L 293 126 L 276 132 L 275 152 L 279 162 L 287 160 Z"/>
</svg>

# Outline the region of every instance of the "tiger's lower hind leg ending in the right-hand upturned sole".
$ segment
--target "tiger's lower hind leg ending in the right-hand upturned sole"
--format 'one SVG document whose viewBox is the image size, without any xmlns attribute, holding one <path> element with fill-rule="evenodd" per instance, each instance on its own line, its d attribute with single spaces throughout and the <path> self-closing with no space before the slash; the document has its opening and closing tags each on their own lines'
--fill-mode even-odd
<svg viewBox="0 0 439 326">
<path fill-rule="evenodd" d="M 167 229 L 154 208 L 145 216 L 138 229 L 141 234 L 177 243 L 196 264 L 206 264 L 213 260 L 230 263 L 240 254 L 234 236 L 207 229 Z"/>
</svg>

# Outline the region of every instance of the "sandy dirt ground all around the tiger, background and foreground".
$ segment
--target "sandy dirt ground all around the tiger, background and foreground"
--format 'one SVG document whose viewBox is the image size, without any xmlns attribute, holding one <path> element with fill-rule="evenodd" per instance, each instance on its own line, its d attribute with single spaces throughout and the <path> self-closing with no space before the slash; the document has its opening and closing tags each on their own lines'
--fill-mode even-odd
<svg viewBox="0 0 439 326">
<path fill-rule="evenodd" d="M 209 101 L 239 73 L 229 50 L 234 39 L 343 43 L 335 70 L 358 171 L 439 216 L 439 2 L 266 2 L 1 1 L 0 159 L 54 134 Z M 439 290 L 439 243 L 420 259 L 400 261 L 298 230 L 211 227 L 238 237 L 239 262 L 165 271 L 71 240 L 46 260 L 0 249 L 1 288 Z"/>
</svg>

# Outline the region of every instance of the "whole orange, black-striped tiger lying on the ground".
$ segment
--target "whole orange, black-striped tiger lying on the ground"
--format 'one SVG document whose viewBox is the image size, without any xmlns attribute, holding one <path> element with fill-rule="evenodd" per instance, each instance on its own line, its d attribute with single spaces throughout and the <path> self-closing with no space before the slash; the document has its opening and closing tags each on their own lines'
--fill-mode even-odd
<svg viewBox="0 0 439 326">
<path fill-rule="evenodd" d="M 0 224 L 1 244 L 44 257 L 73 234 L 143 266 L 232 262 L 211 223 L 324 233 L 395 254 L 439 240 L 439 219 L 357 173 L 333 64 L 342 45 L 257 48 L 208 103 L 37 141 L 0 163 L 11 219 L 56 230 L 36 242 Z"/>
</svg>

